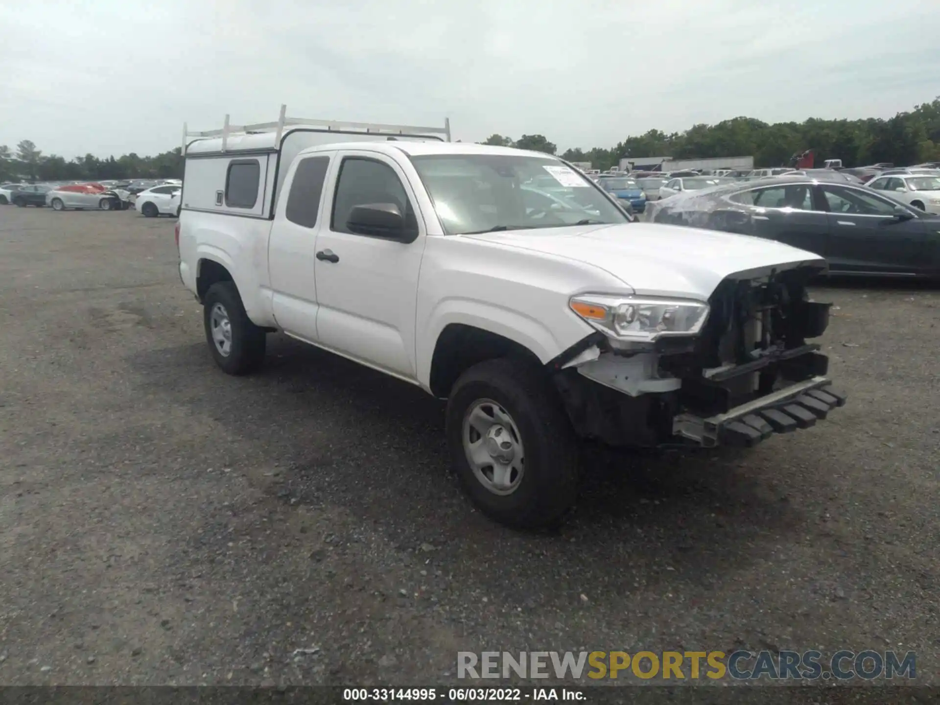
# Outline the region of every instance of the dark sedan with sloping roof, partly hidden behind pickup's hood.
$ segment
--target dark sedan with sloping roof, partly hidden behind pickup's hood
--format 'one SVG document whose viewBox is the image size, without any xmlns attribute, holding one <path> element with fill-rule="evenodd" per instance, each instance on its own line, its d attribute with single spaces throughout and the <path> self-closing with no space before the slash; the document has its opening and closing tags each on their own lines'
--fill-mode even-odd
<svg viewBox="0 0 940 705">
<path fill-rule="evenodd" d="M 777 177 L 649 204 L 647 219 L 726 230 L 822 255 L 832 274 L 940 276 L 940 216 L 865 186 Z"/>
</svg>

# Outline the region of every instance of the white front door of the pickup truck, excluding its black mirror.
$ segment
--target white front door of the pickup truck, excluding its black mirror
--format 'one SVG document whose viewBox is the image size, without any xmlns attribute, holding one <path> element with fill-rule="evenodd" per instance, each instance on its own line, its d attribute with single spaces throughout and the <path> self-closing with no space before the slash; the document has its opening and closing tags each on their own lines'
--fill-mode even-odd
<svg viewBox="0 0 940 705">
<path fill-rule="evenodd" d="M 319 342 L 415 380 L 415 305 L 425 238 L 414 192 L 399 164 L 384 154 L 350 150 L 338 159 L 333 202 L 324 204 L 317 234 Z M 413 241 L 350 232 L 352 208 L 369 203 L 398 206 Z"/>
</svg>

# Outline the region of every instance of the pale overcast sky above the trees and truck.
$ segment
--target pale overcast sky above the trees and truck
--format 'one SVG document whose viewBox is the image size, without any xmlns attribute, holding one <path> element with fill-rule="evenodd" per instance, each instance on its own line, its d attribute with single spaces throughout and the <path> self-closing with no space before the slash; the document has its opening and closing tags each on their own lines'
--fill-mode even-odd
<svg viewBox="0 0 940 705">
<path fill-rule="evenodd" d="M 288 115 L 559 151 L 940 96 L 940 0 L 0 0 L 0 145 L 66 158 Z"/>
</svg>

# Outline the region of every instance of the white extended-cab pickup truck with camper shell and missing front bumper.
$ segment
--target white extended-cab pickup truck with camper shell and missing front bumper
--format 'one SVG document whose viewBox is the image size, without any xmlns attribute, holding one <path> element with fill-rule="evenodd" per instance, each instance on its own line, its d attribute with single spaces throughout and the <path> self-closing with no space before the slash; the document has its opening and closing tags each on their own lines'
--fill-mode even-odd
<svg viewBox="0 0 940 705">
<path fill-rule="evenodd" d="M 579 438 L 750 446 L 844 403 L 807 343 L 823 258 L 631 223 L 539 152 L 290 125 L 185 150 L 180 277 L 212 356 L 255 370 L 282 331 L 446 398 L 454 469 L 493 518 L 556 522 Z"/>
</svg>

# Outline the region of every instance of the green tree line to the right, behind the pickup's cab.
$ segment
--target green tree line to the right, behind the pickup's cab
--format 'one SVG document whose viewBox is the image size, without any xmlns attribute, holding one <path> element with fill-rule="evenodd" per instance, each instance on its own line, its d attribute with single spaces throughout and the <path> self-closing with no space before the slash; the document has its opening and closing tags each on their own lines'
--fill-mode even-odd
<svg viewBox="0 0 940 705">
<path fill-rule="evenodd" d="M 481 144 L 503 145 L 556 154 L 556 146 L 541 134 L 517 140 L 492 134 Z M 823 120 L 769 124 L 756 118 L 731 118 L 716 125 L 699 124 L 683 133 L 650 130 L 627 137 L 606 149 L 567 149 L 559 156 L 570 162 L 590 162 L 609 169 L 622 158 L 669 156 L 673 159 L 753 156 L 755 166 L 790 165 L 794 154 L 812 149 L 816 164 L 841 159 L 844 166 L 890 162 L 920 164 L 940 161 L 940 97 L 917 105 L 894 118 Z"/>
</svg>

